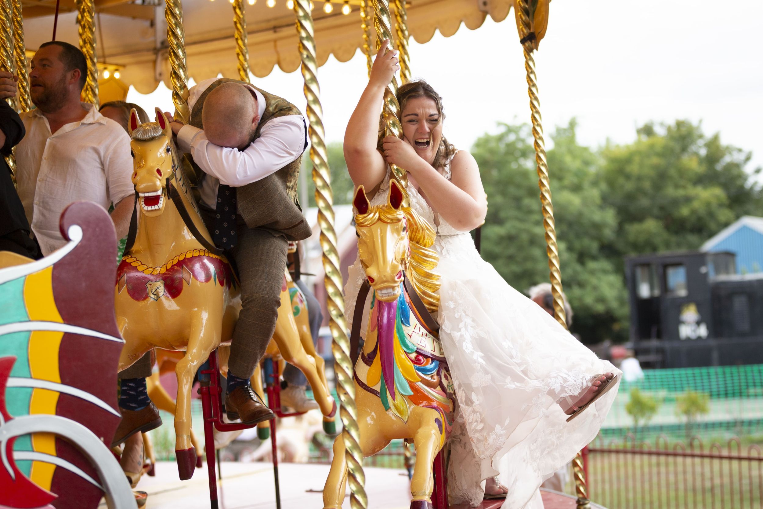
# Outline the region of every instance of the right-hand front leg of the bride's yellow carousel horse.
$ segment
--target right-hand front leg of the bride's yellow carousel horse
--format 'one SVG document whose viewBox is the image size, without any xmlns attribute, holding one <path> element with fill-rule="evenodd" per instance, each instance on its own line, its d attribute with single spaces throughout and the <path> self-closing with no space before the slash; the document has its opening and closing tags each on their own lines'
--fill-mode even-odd
<svg viewBox="0 0 763 509">
<path fill-rule="evenodd" d="M 418 429 L 414 435 L 416 462 L 414 476 L 410 480 L 410 494 L 413 497 L 410 507 L 431 507 L 434 489 L 432 464 L 443 444 L 443 416 L 437 410 L 426 407 L 415 407 L 411 413 L 414 418 L 409 422 L 412 425 L 418 424 Z M 428 502 L 429 505 L 420 501 Z"/>
</svg>

